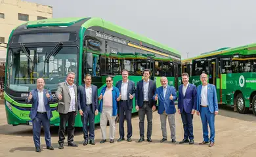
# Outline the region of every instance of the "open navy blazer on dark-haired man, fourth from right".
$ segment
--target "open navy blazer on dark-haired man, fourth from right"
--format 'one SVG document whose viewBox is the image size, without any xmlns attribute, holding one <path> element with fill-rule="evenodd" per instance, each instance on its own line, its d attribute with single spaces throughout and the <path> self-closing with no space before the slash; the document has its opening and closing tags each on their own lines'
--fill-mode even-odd
<svg viewBox="0 0 256 157">
<path fill-rule="evenodd" d="M 143 106 L 143 101 L 144 101 L 144 93 L 143 93 L 143 80 L 140 80 L 139 82 L 137 82 L 137 89 L 136 89 L 136 104 L 139 107 Z M 156 93 L 156 82 L 154 82 L 153 80 L 149 80 L 149 85 L 148 85 L 148 102 L 149 102 L 149 106 L 153 107 L 153 105 L 156 105 L 156 101 L 154 101 L 152 99 L 152 97 L 154 96 L 154 94 Z"/>
</svg>

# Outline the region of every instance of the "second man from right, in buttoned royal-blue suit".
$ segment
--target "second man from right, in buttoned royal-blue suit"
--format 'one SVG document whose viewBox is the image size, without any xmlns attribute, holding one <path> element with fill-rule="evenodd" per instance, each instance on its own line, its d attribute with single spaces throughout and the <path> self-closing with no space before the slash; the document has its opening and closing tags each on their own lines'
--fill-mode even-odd
<svg viewBox="0 0 256 157">
<path fill-rule="evenodd" d="M 188 82 L 188 73 L 182 73 L 182 82 L 179 86 L 179 101 L 178 101 L 178 113 L 181 114 L 181 119 L 184 129 L 184 138 L 180 142 L 194 144 L 193 135 L 193 115 L 196 111 L 196 86 Z M 188 138 L 190 141 L 188 141 Z"/>
</svg>

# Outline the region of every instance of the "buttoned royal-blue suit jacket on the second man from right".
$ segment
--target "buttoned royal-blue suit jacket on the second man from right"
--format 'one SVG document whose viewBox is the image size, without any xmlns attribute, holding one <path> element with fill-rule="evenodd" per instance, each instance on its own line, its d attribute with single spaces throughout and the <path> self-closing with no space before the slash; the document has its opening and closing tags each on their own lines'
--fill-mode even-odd
<svg viewBox="0 0 256 157">
<path fill-rule="evenodd" d="M 182 88 L 183 84 L 179 86 L 178 109 L 180 109 L 181 113 L 183 110 L 186 113 L 191 113 L 192 109 L 196 110 L 196 86 L 189 83 L 188 87 L 186 88 L 185 96 L 183 95 Z"/>
</svg>

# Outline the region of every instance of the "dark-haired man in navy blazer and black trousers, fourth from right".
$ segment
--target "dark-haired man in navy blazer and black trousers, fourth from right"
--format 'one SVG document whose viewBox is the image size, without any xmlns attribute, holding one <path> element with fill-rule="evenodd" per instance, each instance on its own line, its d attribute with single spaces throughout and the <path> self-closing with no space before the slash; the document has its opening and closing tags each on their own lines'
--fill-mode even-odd
<svg viewBox="0 0 256 157">
<path fill-rule="evenodd" d="M 139 111 L 139 128 L 140 128 L 140 139 L 139 142 L 144 141 L 144 119 L 145 114 L 148 121 L 148 131 L 146 133 L 147 141 L 152 142 L 152 117 L 153 112 L 156 110 L 156 101 L 152 99 L 156 92 L 156 82 L 150 80 L 150 70 L 144 69 L 143 71 L 143 80 L 137 82 L 136 89 L 136 109 Z"/>
</svg>

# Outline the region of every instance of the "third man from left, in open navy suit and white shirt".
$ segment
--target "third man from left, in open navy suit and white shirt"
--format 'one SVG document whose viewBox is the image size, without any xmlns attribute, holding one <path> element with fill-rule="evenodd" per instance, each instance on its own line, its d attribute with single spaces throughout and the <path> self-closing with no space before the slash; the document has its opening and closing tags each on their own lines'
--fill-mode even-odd
<svg viewBox="0 0 256 157">
<path fill-rule="evenodd" d="M 83 123 L 83 145 L 95 145 L 95 115 L 98 114 L 98 88 L 91 84 L 91 75 L 85 75 L 85 84 L 77 88 L 77 105 Z M 87 124 L 89 122 L 89 138 Z"/>
</svg>

